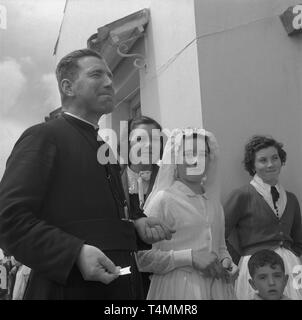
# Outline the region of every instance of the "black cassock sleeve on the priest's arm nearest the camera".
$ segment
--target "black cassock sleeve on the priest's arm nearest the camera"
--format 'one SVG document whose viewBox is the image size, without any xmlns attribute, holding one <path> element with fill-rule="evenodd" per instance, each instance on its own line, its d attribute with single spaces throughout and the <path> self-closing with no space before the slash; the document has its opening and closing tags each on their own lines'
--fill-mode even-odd
<svg viewBox="0 0 302 320">
<path fill-rule="evenodd" d="M 45 277 L 65 283 L 84 243 L 41 216 L 57 147 L 45 126 L 26 130 L 0 183 L 0 247 Z"/>
</svg>

